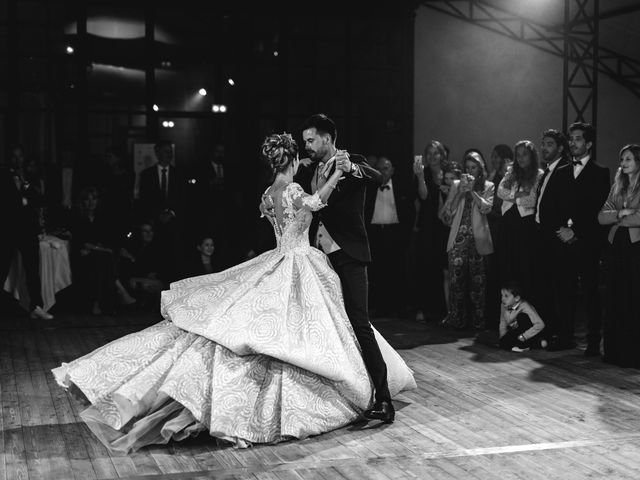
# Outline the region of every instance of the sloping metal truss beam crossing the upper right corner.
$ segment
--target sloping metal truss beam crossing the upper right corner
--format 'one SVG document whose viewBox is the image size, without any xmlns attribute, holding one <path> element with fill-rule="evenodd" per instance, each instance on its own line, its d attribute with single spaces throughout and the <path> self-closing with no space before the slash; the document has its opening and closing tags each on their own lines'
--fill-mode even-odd
<svg viewBox="0 0 640 480">
<path fill-rule="evenodd" d="M 566 30 L 558 31 L 556 26 L 518 16 L 491 5 L 485 0 L 422 0 L 421 4 L 431 10 L 477 25 L 557 57 L 564 58 L 565 42 L 567 42 L 573 45 L 576 51 L 576 55 L 571 56 L 571 61 L 574 57 L 580 58 L 577 52 L 591 48 L 589 40 L 583 38 L 583 35 L 578 32 L 590 28 L 590 24 L 597 23 L 593 21 L 594 18 L 598 18 L 591 15 L 576 18 L 574 20 L 576 24 L 569 29 L 570 33 L 566 34 Z M 597 46 L 596 50 L 593 56 L 596 59 L 597 71 L 623 85 L 640 98 L 640 60 L 601 46 Z"/>
</svg>

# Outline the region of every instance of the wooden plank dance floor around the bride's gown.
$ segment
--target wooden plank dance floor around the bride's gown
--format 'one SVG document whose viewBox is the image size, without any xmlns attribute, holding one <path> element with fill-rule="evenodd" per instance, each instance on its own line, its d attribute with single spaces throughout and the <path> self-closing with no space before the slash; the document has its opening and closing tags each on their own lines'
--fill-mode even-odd
<svg viewBox="0 0 640 480">
<path fill-rule="evenodd" d="M 201 434 L 109 454 L 50 369 L 157 317 L 0 321 L 0 480 L 640 479 L 640 372 L 580 350 L 501 352 L 473 332 L 375 325 L 414 370 L 393 425 L 239 450 Z"/>
</svg>

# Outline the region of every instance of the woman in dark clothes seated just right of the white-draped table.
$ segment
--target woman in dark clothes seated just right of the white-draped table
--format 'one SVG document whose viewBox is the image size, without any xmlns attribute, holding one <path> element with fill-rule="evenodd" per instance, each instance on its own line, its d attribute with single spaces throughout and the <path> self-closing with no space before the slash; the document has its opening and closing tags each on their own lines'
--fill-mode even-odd
<svg viewBox="0 0 640 480">
<path fill-rule="evenodd" d="M 97 189 L 84 188 L 71 220 L 73 283 L 94 315 L 104 309 L 113 312 L 115 295 L 123 290 L 116 283 L 115 238 L 98 205 Z"/>
</svg>

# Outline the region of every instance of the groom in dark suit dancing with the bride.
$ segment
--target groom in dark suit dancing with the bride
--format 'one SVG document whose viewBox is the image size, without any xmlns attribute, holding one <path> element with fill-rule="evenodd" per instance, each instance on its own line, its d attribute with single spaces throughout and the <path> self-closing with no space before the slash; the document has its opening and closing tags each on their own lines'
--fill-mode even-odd
<svg viewBox="0 0 640 480">
<path fill-rule="evenodd" d="M 326 115 L 316 114 L 305 120 L 302 139 L 309 159 L 300 162 L 295 181 L 307 193 L 314 193 L 336 168 L 345 172 L 328 205 L 314 215 L 310 240 L 328 255 L 340 277 L 345 309 L 373 381 L 375 403 L 364 415 L 391 423 L 395 410 L 387 384 L 387 366 L 369 323 L 367 263 L 371 254 L 363 212 L 367 183 L 382 183 L 382 175 L 362 155 L 337 150 L 336 136 L 336 125 Z"/>
</svg>

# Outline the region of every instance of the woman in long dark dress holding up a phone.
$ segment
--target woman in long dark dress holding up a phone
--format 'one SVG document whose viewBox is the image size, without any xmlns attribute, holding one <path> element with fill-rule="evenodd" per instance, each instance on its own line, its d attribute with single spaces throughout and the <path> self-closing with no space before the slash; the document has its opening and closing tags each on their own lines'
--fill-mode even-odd
<svg viewBox="0 0 640 480">
<path fill-rule="evenodd" d="M 412 238 L 415 260 L 411 269 L 416 320 L 442 320 L 446 315 L 444 264 L 439 246 L 447 229 L 438 218 L 442 168 L 446 162 L 444 146 L 438 140 L 427 143 L 422 159 L 415 161 L 416 223 Z M 410 259 L 411 262 L 411 259 Z"/>
</svg>

